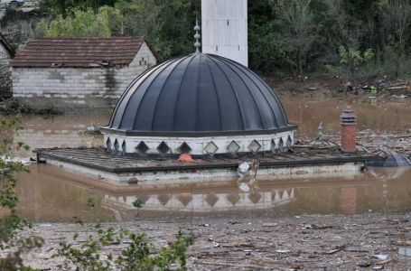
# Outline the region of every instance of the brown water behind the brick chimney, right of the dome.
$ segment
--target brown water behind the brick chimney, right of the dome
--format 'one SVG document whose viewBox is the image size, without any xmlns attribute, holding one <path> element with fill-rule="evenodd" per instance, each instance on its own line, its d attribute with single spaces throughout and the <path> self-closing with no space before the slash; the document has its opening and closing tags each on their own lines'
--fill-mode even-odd
<svg viewBox="0 0 411 271">
<path fill-rule="evenodd" d="M 351 107 L 357 114 L 359 129 L 404 132 L 411 122 L 411 107 L 406 100 L 378 99 L 370 104 L 368 98 L 281 98 L 287 117 L 298 124 L 297 135 L 316 135 L 320 122 L 324 134 L 340 130 L 341 110 Z M 393 121 L 395 119 L 395 121 Z"/>
</svg>

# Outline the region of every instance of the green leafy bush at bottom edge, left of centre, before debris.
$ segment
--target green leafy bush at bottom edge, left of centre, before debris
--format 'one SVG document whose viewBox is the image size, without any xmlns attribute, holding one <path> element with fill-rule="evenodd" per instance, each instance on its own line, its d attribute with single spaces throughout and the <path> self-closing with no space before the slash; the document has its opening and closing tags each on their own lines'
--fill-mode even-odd
<svg viewBox="0 0 411 271">
<path fill-rule="evenodd" d="M 169 270 L 171 265 L 179 266 L 177 270 L 186 270 L 187 250 L 193 238 L 181 232 L 169 246 L 154 248 L 145 234 L 135 234 L 113 228 L 98 229 L 97 237 L 92 235 L 80 246 L 61 242 L 60 248 L 53 257 L 64 257 L 61 268 L 75 266 L 76 270 Z M 77 235 L 74 239 L 78 238 Z M 102 252 L 103 248 L 112 245 L 129 244 L 122 249 L 121 255 L 113 257 Z M 157 251 L 157 252 L 154 252 Z"/>
</svg>

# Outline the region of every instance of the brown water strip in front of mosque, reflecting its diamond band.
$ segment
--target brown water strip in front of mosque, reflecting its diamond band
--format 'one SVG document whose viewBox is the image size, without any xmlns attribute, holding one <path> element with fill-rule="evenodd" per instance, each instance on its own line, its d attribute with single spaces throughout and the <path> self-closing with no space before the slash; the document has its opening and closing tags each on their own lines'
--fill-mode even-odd
<svg viewBox="0 0 411 271">
<path fill-rule="evenodd" d="M 260 179 L 248 192 L 237 180 L 171 185 L 116 187 L 59 171 L 50 165 L 34 165 L 32 174 L 22 174 L 18 193 L 19 210 L 33 221 L 71 221 L 73 216 L 90 221 L 134 220 L 133 201 L 145 202 L 142 216 L 219 214 L 267 211 L 275 216 L 355 213 L 385 208 L 411 208 L 411 170 L 385 177 L 361 173 L 351 178 L 317 176 L 303 180 Z M 385 187 L 386 183 L 387 187 Z M 96 207 L 87 206 L 93 197 Z"/>
</svg>

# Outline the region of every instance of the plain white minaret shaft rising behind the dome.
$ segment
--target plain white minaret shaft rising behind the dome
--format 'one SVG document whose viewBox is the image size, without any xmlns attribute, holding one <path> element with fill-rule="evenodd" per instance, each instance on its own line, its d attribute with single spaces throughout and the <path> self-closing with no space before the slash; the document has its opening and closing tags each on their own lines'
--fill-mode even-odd
<svg viewBox="0 0 411 271">
<path fill-rule="evenodd" d="M 202 52 L 248 66 L 247 0 L 201 0 Z"/>
</svg>

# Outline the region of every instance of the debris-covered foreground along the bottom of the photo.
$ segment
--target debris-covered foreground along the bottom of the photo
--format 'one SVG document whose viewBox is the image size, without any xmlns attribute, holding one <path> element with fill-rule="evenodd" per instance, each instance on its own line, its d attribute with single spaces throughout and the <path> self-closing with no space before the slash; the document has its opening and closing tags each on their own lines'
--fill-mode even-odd
<svg viewBox="0 0 411 271">
<path fill-rule="evenodd" d="M 411 257 L 398 255 L 411 246 L 411 212 L 384 215 L 307 215 L 279 218 L 274 212 L 162 217 L 135 222 L 103 223 L 104 228 L 145 232 L 155 246 L 164 246 L 179 229 L 195 238 L 189 270 L 409 270 Z M 27 264 L 57 270 L 61 258 L 51 257 L 64 239 L 79 233 L 80 244 L 92 226 L 35 224 L 29 233 L 45 239 L 26 255 Z M 104 252 L 118 255 L 126 245 Z"/>
</svg>

